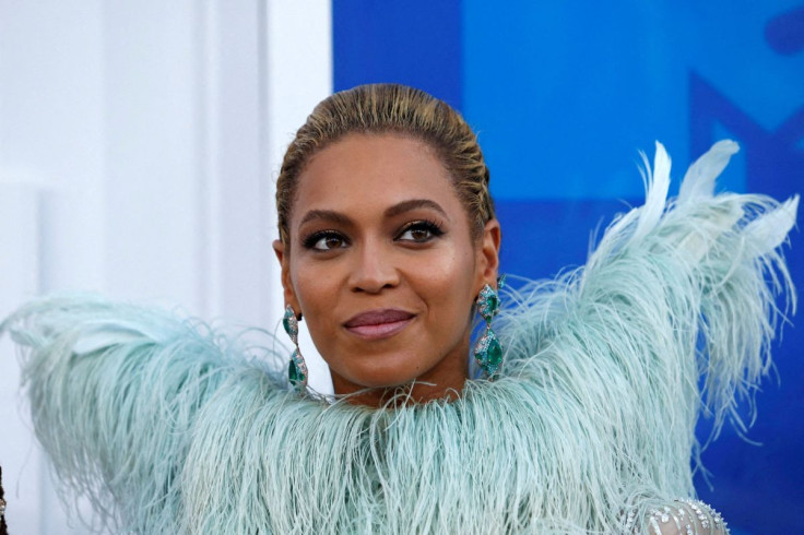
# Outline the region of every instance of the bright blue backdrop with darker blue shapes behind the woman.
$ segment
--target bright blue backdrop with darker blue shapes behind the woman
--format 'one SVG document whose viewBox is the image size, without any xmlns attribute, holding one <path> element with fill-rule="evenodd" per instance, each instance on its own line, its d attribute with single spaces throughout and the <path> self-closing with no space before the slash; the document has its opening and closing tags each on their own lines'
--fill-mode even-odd
<svg viewBox="0 0 804 535">
<path fill-rule="evenodd" d="M 804 189 L 801 1 L 333 0 L 333 40 L 335 91 L 414 85 L 478 132 L 509 273 L 583 263 L 591 233 L 641 202 L 637 151 L 652 155 L 654 140 L 676 188 L 689 162 L 731 138 L 742 151 L 722 188 Z M 791 241 L 801 287 L 804 239 Z M 802 346 L 788 326 L 748 435 L 761 445 L 726 429 L 704 455 L 713 490 L 699 480 L 699 495 L 735 534 L 804 532 Z"/>
</svg>

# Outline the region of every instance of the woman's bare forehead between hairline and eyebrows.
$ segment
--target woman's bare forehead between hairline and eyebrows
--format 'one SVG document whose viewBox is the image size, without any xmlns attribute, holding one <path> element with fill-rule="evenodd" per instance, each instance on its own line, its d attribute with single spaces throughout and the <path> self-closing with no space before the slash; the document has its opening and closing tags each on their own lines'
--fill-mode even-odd
<svg viewBox="0 0 804 535">
<path fill-rule="evenodd" d="M 398 134 L 350 134 L 317 153 L 298 177 L 293 219 L 309 210 L 368 215 L 411 199 L 461 212 L 449 171 L 425 142 Z"/>
</svg>

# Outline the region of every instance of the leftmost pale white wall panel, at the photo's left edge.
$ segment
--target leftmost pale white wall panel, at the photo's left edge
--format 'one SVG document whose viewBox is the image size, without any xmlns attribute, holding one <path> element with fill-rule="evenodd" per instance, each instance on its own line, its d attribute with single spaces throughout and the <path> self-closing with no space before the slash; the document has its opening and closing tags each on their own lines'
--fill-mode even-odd
<svg viewBox="0 0 804 535">
<path fill-rule="evenodd" d="M 102 288 L 100 2 L 0 2 L 0 169 L 42 187 L 43 288 Z"/>
</svg>

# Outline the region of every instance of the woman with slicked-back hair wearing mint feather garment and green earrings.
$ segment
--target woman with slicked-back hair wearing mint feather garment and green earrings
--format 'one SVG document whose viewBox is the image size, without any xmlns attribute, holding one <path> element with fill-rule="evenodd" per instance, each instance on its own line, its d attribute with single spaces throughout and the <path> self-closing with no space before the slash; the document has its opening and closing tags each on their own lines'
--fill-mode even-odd
<svg viewBox="0 0 804 535">
<path fill-rule="evenodd" d="M 740 421 L 768 369 L 796 207 L 713 197 L 735 151 L 667 203 L 658 145 L 646 205 L 492 322 L 500 228 L 474 134 L 413 88 L 333 95 L 285 155 L 274 249 L 285 328 L 307 322 L 339 400 L 306 393 L 297 346 L 285 368 L 198 322 L 56 298 L 9 320 L 37 436 L 138 533 L 725 533 L 687 501 L 695 423 L 701 403 L 714 435 Z"/>
</svg>

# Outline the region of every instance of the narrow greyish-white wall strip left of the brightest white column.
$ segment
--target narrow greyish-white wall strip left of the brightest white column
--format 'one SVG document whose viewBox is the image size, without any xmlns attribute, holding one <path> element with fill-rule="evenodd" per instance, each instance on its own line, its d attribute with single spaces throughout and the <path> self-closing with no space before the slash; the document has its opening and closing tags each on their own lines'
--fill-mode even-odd
<svg viewBox="0 0 804 535">
<path fill-rule="evenodd" d="M 260 90 L 262 50 L 259 2 L 210 2 L 203 16 L 208 154 L 205 200 L 210 230 L 208 300 L 213 316 L 262 324 L 268 309 L 263 273 L 270 260 L 263 183 L 267 121 Z"/>
</svg>

